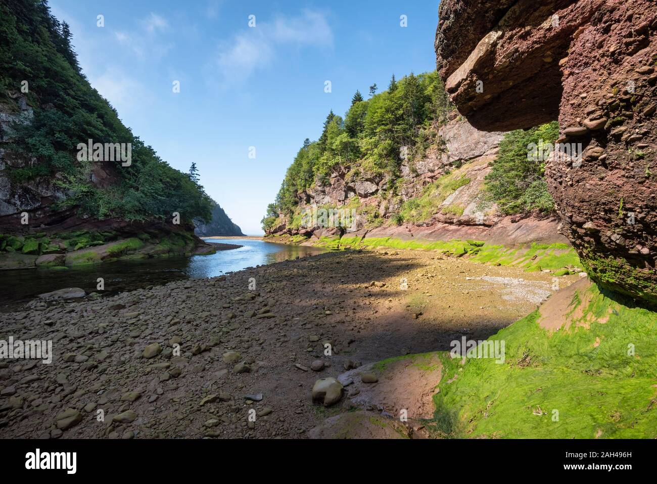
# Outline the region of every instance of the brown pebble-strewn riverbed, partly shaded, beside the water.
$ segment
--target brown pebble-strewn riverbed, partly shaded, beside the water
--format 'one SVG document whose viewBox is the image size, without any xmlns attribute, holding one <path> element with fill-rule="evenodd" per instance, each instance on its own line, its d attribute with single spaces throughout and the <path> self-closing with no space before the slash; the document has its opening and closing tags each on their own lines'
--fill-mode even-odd
<svg viewBox="0 0 657 484">
<path fill-rule="evenodd" d="M 404 395 L 423 400 L 403 402 L 417 412 L 410 419 L 428 416 L 425 379 L 408 374 L 400 386 L 367 365 L 485 339 L 549 297 L 553 277 L 380 249 L 31 304 L 0 314 L 0 340 L 51 340 L 53 362 L 0 360 L 0 436 L 327 436 L 313 427 L 354 408 L 385 418 Z M 561 287 L 577 279 L 558 278 Z M 346 370 L 353 378 L 338 378 Z M 327 377 L 345 387 L 323 406 L 311 392 Z M 357 398 L 364 385 L 388 392 L 383 403 Z"/>
</svg>

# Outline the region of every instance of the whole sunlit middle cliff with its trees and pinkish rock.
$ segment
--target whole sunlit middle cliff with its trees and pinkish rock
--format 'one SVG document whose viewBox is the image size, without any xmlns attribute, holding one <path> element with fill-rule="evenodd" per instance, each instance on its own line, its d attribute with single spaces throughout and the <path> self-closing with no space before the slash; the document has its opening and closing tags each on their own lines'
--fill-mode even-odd
<svg viewBox="0 0 657 484">
<path fill-rule="evenodd" d="M 297 243 L 336 237 L 516 245 L 566 243 L 540 160 L 526 143 L 556 139 L 556 125 L 482 132 L 451 110 L 435 72 L 391 82 L 344 119 L 329 114 L 306 140 L 263 219 Z M 346 210 L 348 224 L 309 222 L 309 210 Z M 337 225 L 337 226 L 336 226 Z"/>
</svg>

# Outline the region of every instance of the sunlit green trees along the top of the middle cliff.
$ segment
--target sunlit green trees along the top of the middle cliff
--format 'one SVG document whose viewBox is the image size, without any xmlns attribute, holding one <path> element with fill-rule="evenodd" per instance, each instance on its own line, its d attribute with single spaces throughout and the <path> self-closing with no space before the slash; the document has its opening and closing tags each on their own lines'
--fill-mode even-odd
<svg viewBox="0 0 657 484">
<path fill-rule="evenodd" d="M 278 212 L 290 216 L 303 192 L 316 181 L 327 183 L 338 166 L 352 172 L 360 167 L 362 172 L 388 173 L 394 190 L 401 176 L 401 147 L 411 147 L 411 153 L 421 156 L 430 146 L 426 128 L 444 120 L 449 109 L 438 74 L 393 78 L 390 89 L 379 94 L 376 85 L 372 87 L 371 99 L 363 101 L 357 91 L 344 120 L 331 111 L 319 140 L 304 143 L 281 184 L 274 203 L 276 217 Z M 271 226 L 272 217 L 265 216 L 263 224 L 266 220 Z"/>
</svg>

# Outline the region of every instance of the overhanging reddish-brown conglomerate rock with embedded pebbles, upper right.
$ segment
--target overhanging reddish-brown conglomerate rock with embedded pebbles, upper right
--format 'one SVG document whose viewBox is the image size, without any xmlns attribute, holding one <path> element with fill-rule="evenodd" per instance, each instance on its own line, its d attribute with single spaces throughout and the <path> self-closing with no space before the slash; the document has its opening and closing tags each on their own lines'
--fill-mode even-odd
<svg viewBox="0 0 657 484">
<path fill-rule="evenodd" d="M 562 145 L 546 175 L 565 233 L 591 278 L 651 304 L 656 31 L 648 0 L 443 0 L 436 35 L 440 75 L 473 126 L 558 117 Z"/>
</svg>

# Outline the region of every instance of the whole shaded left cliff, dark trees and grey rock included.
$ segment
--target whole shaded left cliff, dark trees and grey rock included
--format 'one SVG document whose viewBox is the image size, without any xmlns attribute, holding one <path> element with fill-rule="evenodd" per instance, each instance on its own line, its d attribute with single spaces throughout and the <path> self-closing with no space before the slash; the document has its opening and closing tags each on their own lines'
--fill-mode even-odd
<svg viewBox="0 0 657 484">
<path fill-rule="evenodd" d="M 16 252 L 63 254 L 133 237 L 180 235 L 172 252 L 194 252 L 202 241 L 192 221 L 211 220 L 212 200 L 122 124 L 71 41 L 45 0 L 0 5 L 0 267 L 24 265 Z M 105 149 L 81 156 L 89 140 Z M 108 157 L 108 146 L 129 159 Z M 79 241 L 60 247 L 66 239 Z"/>
</svg>

